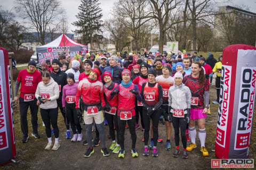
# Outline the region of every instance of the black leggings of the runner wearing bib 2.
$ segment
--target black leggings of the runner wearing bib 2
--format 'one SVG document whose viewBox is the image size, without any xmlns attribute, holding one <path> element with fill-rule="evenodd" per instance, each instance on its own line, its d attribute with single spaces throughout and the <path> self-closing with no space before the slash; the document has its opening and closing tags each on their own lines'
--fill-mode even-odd
<svg viewBox="0 0 256 170">
<path fill-rule="evenodd" d="M 117 116 L 117 123 L 118 123 L 118 128 L 119 128 L 119 142 L 121 149 L 124 149 L 124 131 L 125 131 L 125 125 L 126 121 L 121 120 L 120 116 Z M 136 123 L 136 117 L 132 116 L 132 119 L 127 120 L 127 124 L 129 125 L 129 130 L 131 133 L 131 138 L 132 138 L 132 149 L 135 149 L 135 144 L 137 140 L 137 135 L 135 132 L 135 123 Z"/>
</svg>

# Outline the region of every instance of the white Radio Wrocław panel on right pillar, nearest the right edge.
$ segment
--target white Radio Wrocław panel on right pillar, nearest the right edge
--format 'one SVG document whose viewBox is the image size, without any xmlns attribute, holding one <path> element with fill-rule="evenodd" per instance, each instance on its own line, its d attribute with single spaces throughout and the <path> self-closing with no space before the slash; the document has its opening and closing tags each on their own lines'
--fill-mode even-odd
<svg viewBox="0 0 256 170">
<path fill-rule="evenodd" d="M 238 114 L 234 150 L 243 150 L 250 145 L 255 99 L 256 67 L 242 67 L 239 88 Z"/>
</svg>

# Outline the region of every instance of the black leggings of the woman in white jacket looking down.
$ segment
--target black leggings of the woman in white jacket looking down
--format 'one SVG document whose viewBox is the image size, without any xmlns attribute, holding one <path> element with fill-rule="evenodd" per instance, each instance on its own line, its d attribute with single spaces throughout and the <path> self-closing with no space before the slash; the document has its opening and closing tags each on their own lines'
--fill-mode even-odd
<svg viewBox="0 0 256 170">
<path fill-rule="evenodd" d="M 52 109 L 40 109 L 40 113 L 42 116 L 42 120 L 45 124 L 45 132 L 47 138 L 51 138 L 51 124 L 52 128 L 54 130 L 54 136 L 55 138 L 59 138 L 59 128 L 57 125 L 58 120 L 58 107 L 52 108 Z"/>
</svg>

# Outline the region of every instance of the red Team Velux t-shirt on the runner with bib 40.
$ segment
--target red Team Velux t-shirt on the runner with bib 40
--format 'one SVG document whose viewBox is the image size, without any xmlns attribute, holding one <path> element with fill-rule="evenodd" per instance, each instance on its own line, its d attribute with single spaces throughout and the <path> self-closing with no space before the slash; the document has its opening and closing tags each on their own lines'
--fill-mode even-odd
<svg viewBox="0 0 256 170">
<path fill-rule="evenodd" d="M 42 81 L 42 76 L 37 70 L 34 73 L 28 73 L 25 69 L 19 72 L 17 81 L 21 82 L 20 97 L 24 98 L 24 94 L 35 94 L 37 84 Z"/>
</svg>

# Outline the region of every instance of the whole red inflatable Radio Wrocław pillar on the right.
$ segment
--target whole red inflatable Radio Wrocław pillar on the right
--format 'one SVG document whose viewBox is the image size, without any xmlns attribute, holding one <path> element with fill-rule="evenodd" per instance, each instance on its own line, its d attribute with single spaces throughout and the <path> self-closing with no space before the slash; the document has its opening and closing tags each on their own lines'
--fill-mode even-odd
<svg viewBox="0 0 256 170">
<path fill-rule="evenodd" d="M 215 155 L 249 157 L 256 86 L 256 48 L 244 44 L 223 49 Z"/>
</svg>

